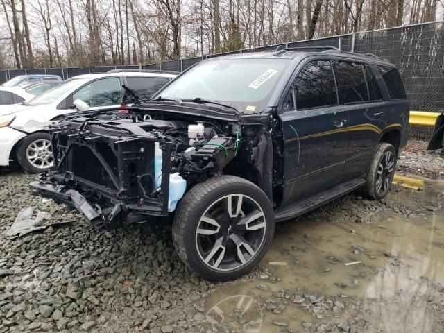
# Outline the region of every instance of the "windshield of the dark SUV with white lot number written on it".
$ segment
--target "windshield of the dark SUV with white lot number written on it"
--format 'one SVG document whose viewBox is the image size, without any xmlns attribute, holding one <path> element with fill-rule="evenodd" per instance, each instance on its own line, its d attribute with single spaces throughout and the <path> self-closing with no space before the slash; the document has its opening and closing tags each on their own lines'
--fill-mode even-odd
<svg viewBox="0 0 444 333">
<path fill-rule="evenodd" d="M 287 59 L 226 59 L 202 62 L 159 92 L 162 99 L 196 99 L 262 112 L 277 85 Z"/>
</svg>

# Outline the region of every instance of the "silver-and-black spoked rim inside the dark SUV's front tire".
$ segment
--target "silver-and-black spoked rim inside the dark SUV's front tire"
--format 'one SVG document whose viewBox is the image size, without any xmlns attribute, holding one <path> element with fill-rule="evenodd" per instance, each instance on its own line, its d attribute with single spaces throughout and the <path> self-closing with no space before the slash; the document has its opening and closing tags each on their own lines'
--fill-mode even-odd
<svg viewBox="0 0 444 333">
<path fill-rule="evenodd" d="M 205 265 L 230 271 L 250 262 L 264 242 L 265 214 L 244 194 L 215 200 L 205 210 L 196 228 L 196 248 Z"/>
</svg>

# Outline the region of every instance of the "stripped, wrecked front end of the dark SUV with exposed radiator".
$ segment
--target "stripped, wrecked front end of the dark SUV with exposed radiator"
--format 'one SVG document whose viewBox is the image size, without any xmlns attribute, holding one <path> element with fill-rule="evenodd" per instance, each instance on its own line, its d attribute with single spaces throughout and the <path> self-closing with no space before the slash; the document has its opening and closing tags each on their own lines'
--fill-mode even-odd
<svg viewBox="0 0 444 333">
<path fill-rule="evenodd" d="M 54 167 L 31 182 L 33 193 L 76 208 L 99 232 L 169 215 L 188 187 L 235 154 L 236 139 L 221 126 L 180 118 L 74 117 L 49 133 Z"/>
</svg>

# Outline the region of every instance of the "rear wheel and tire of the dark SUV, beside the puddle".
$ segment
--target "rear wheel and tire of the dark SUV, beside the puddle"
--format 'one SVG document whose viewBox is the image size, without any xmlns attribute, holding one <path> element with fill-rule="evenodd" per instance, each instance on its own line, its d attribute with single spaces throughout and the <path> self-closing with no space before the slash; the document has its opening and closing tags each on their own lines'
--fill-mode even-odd
<svg viewBox="0 0 444 333">
<path fill-rule="evenodd" d="M 357 191 L 357 194 L 370 200 L 384 198 L 390 189 L 396 168 L 396 151 L 391 144 L 378 144 L 373 161 L 368 168 L 366 185 Z"/>
</svg>

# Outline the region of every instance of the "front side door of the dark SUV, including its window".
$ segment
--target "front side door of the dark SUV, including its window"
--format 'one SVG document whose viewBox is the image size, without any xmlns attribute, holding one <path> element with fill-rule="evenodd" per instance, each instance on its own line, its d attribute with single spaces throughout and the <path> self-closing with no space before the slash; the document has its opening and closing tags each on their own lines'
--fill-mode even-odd
<svg viewBox="0 0 444 333">
<path fill-rule="evenodd" d="M 338 104 L 330 61 L 311 60 L 303 65 L 280 114 L 284 130 L 284 204 L 341 182 L 348 110 Z"/>
</svg>

